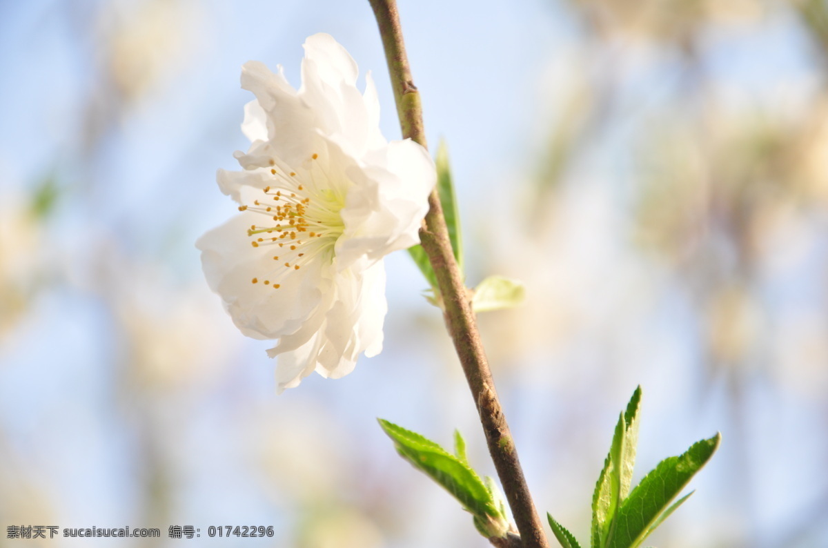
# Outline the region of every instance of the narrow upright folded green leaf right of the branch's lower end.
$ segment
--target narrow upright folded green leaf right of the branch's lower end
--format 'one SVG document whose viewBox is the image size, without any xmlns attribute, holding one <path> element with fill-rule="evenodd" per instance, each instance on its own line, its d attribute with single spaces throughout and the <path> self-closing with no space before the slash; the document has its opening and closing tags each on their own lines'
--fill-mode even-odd
<svg viewBox="0 0 828 548">
<path fill-rule="evenodd" d="M 604 469 L 601 470 L 598 483 L 595 484 L 590 534 L 593 548 L 607 546 L 612 536 L 615 514 L 629 493 L 638 444 L 638 409 L 640 406 L 641 387 L 637 387 L 627 404 L 626 411 L 619 416 L 609 455 L 604 460 Z"/>
</svg>

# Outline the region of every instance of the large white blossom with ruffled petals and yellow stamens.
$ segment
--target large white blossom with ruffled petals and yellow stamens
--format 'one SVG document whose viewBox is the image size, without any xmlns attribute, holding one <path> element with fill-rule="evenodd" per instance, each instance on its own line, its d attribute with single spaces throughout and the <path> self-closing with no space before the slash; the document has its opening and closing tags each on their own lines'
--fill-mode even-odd
<svg viewBox="0 0 828 548">
<path fill-rule="evenodd" d="M 301 87 L 278 67 L 250 61 L 242 87 L 256 95 L 236 151 L 244 171 L 219 170 L 240 214 L 196 243 L 207 282 L 242 333 L 278 339 L 278 392 L 312 371 L 342 377 L 359 353 L 383 346 L 383 256 L 419 243 L 436 182 L 415 142 L 387 142 L 371 75 L 331 36 L 305 42 Z"/>
</svg>

